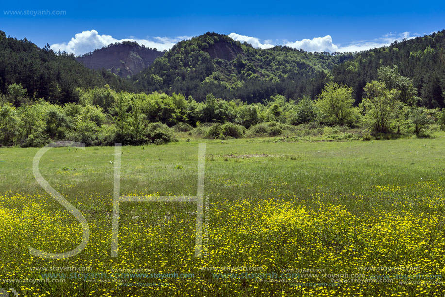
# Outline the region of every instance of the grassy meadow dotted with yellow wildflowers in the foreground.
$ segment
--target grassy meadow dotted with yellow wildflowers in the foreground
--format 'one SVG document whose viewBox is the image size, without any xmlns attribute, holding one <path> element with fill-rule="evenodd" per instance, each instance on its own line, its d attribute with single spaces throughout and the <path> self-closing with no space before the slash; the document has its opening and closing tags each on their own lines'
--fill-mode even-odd
<svg viewBox="0 0 445 297">
<path fill-rule="evenodd" d="M 445 135 L 348 142 L 192 140 L 122 148 L 112 257 L 114 147 L 0 149 L 0 294 L 15 296 L 445 296 Z"/>
</svg>

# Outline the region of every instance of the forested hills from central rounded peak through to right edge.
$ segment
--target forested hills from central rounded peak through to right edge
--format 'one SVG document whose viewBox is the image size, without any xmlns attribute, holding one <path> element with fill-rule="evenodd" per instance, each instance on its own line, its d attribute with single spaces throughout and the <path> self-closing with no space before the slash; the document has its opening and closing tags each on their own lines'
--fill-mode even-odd
<svg viewBox="0 0 445 297">
<path fill-rule="evenodd" d="M 445 107 L 445 30 L 362 52 L 305 52 L 286 46 L 256 49 L 227 35 L 207 32 L 176 44 L 150 67 L 133 76 L 136 87 L 197 101 L 214 96 L 248 103 L 279 94 L 315 99 L 327 81 L 353 87 L 355 104 L 381 66 L 396 65 L 411 79 L 429 108 Z"/>
</svg>

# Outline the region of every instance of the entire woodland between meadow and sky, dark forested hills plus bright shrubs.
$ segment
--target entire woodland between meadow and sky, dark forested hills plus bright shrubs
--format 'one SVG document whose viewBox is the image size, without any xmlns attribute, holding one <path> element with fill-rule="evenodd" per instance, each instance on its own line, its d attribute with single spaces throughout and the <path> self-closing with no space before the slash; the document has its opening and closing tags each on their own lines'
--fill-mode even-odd
<svg viewBox="0 0 445 297">
<path fill-rule="evenodd" d="M 310 129 L 354 130 L 335 134 L 346 140 L 429 137 L 445 129 L 444 33 L 343 54 L 261 50 L 206 33 L 126 79 L 0 32 L 0 145 L 289 138 Z"/>
</svg>

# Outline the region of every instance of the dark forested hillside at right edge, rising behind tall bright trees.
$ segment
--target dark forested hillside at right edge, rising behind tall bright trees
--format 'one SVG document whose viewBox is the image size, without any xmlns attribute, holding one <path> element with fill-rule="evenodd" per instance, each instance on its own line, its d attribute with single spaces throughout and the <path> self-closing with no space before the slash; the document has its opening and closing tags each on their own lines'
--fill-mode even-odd
<svg viewBox="0 0 445 297">
<path fill-rule="evenodd" d="M 394 42 L 389 47 L 355 54 L 335 65 L 332 79 L 354 89 L 356 104 L 362 100 L 366 82 L 377 79 L 380 66 L 397 65 L 402 76 L 412 79 L 421 105 L 445 107 L 445 30 L 432 35 Z"/>
</svg>

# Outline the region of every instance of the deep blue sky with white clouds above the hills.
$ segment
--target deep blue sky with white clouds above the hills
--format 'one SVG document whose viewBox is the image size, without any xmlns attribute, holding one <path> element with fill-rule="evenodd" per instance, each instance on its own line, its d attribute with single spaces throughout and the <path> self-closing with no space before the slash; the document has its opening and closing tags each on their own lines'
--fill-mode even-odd
<svg viewBox="0 0 445 297">
<path fill-rule="evenodd" d="M 168 49 L 207 31 L 262 48 L 345 52 L 445 28 L 442 1 L 7 1 L 2 10 L 7 35 L 76 54 L 123 39 Z"/>
</svg>

